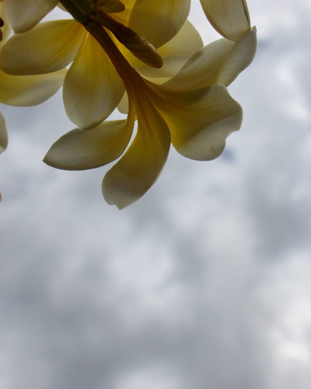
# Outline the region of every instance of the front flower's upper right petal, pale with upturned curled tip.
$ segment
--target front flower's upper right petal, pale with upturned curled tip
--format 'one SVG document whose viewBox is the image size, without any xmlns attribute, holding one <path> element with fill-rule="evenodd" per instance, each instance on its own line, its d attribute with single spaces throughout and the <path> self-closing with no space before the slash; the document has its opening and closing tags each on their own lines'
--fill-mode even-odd
<svg viewBox="0 0 311 389">
<path fill-rule="evenodd" d="M 190 90 L 212 84 L 228 86 L 252 62 L 257 47 L 256 29 L 236 43 L 218 39 L 197 51 L 175 77 L 166 82 L 170 88 Z"/>
</svg>

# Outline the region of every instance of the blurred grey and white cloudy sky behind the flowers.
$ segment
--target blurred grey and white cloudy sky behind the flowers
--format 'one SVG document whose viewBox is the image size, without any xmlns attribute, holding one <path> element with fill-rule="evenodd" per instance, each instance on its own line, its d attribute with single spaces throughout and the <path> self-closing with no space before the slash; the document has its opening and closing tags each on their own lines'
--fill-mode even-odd
<svg viewBox="0 0 311 389">
<path fill-rule="evenodd" d="M 41 162 L 74 128 L 61 91 L 1 105 L 1 389 L 310 389 L 311 5 L 248 7 L 241 130 L 211 162 L 171 148 L 122 211 L 101 195 L 111 165 Z M 198 0 L 189 18 L 218 38 Z"/>
</svg>

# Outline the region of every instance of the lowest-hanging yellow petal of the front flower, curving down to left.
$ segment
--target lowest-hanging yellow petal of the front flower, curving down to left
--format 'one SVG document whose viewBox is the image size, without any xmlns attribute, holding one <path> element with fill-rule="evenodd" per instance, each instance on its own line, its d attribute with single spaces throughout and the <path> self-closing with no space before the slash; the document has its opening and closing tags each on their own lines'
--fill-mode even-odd
<svg viewBox="0 0 311 389">
<path fill-rule="evenodd" d="M 119 209 L 134 203 L 154 184 L 171 143 L 167 124 L 148 98 L 142 96 L 136 107 L 136 137 L 124 156 L 107 172 L 102 183 L 105 200 Z"/>
</svg>

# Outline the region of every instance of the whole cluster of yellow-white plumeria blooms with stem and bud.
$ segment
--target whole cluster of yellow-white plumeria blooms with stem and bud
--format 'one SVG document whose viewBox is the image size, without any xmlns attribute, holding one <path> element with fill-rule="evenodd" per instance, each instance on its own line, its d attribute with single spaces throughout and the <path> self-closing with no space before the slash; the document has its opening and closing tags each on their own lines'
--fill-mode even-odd
<svg viewBox="0 0 311 389">
<path fill-rule="evenodd" d="M 190 0 L 61 0 L 69 18 L 38 23 L 57 3 L 3 1 L 16 34 L 1 49 L 1 77 L 49 83 L 66 72 L 64 106 L 78 128 L 52 145 L 45 163 L 84 170 L 121 156 L 102 191 L 122 209 L 154 184 L 171 144 L 200 161 L 221 154 L 242 119 L 226 87 L 252 62 L 257 46 L 245 0 L 201 0 L 224 37 L 204 47 L 187 20 Z M 54 93 L 59 85 L 53 84 Z M 127 118 L 106 120 L 116 107 Z"/>
</svg>

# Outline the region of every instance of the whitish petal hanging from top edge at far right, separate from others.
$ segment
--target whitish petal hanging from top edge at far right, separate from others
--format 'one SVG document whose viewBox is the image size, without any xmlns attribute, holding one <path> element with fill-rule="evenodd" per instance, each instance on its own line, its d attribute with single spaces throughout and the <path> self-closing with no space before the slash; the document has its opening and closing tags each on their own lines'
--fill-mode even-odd
<svg viewBox="0 0 311 389">
<path fill-rule="evenodd" d="M 236 42 L 250 31 L 246 0 L 200 0 L 208 21 L 223 37 Z"/>
</svg>

